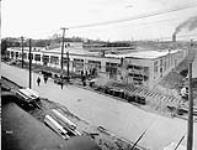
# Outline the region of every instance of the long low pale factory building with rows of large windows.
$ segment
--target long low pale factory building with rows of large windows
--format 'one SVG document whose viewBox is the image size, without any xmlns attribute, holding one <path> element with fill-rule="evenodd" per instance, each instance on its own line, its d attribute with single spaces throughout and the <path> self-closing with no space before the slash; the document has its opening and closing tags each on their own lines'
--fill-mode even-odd
<svg viewBox="0 0 197 150">
<path fill-rule="evenodd" d="M 185 50 L 166 49 L 162 51 L 138 50 L 133 48 L 91 48 L 82 43 L 66 43 L 64 69 L 74 73 L 96 71 L 100 76 L 128 84 L 151 87 L 179 65 L 187 55 Z M 8 48 L 8 57 L 21 60 L 21 48 Z M 32 63 L 60 68 L 61 49 L 32 48 Z M 24 48 L 24 61 L 28 61 L 29 48 Z"/>
</svg>

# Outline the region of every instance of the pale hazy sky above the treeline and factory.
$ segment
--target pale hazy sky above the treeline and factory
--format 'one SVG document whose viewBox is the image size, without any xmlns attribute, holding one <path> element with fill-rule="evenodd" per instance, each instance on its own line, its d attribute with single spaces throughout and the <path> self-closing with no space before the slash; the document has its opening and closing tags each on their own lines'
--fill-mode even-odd
<svg viewBox="0 0 197 150">
<path fill-rule="evenodd" d="M 192 5 L 194 7 L 146 17 L 127 22 L 73 28 L 123 18 L 143 16 L 150 13 L 176 9 Z M 61 27 L 68 27 L 66 37 L 115 40 L 167 40 L 175 28 L 197 15 L 197 0 L 2 0 L 2 37 L 48 38 L 54 34 L 61 36 Z M 180 35 L 180 37 L 179 37 Z M 188 39 L 197 31 L 183 30 L 177 39 Z M 181 35 L 183 37 L 181 37 Z"/>
</svg>

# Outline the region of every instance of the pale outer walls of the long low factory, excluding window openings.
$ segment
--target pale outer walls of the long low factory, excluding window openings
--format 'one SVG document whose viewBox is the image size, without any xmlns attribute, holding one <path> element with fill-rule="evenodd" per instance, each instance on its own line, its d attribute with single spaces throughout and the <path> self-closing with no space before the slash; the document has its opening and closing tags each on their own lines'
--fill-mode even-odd
<svg viewBox="0 0 197 150">
<path fill-rule="evenodd" d="M 19 52 L 21 53 L 21 49 L 20 50 L 15 50 L 13 48 L 9 48 L 8 51 L 14 51 L 14 52 Z M 25 53 L 27 53 L 28 56 L 28 50 L 25 49 L 24 50 Z M 42 61 L 42 57 L 43 55 L 47 55 L 49 56 L 49 63 L 47 64 L 47 66 L 49 67 L 55 67 L 55 68 L 60 68 L 60 61 L 61 61 L 61 56 L 60 53 L 51 53 L 51 52 L 32 52 L 33 53 L 33 58 L 35 58 L 35 54 L 40 54 L 41 56 L 41 61 L 35 61 L 35 59 L 33 59 L 32 63 L 35 64 L 40 64 L 43 65 L 43 61 Z M 151 87 L 153 85 L 155 85 L 156 83 L 158 83 L 163 76 L 167 75 L 175 66 L 177 66 L 179 63 L 181 63 L 185 56 L 187 55 L 186 51 L 179 51 L 177 53 L 169 53 L 163 57 L 159 57 L 156 59 L 137 59 L 137 58 L 124 58 L 124 69 L 122 69 L 120 72 L 122 72 L 121 74 L 126 78 L 124 81 L 126 82 L 132 82 L 131 78 L 128 78 L 128 70 L 125 69 L 125 65 L 136 65 L 136 66 L 141 66 L 141 67 L 148 67 L 148 81 L 146 82 L 146 85 Z M 50 62 L 51 56 L 56 56 L 59 58 L 58 64 L 53 64 Z M 11 58 L 11 53 L 9 54 L 9 57 Z M 66 58 L 67 55 L 66 53 L 64 54 L 64 58 Z M 78 54 L 69 54 L 69 58 L 70 58 L 70 71 L 75 71 L 75 68 L 73 66 L 73 61 L 74 59 L 82 59 L 84 61 L 84 65 L 83 68 L 81 68 L 81 70 L 85 71 L 88 68 L 88 61 L 89 60 L 94 60 L 94 61 L 99 61 L 101 62 L 101 69 L 100 69 L 100 73 L 106 74 L 106 63 L 110 62 L 110 63 L 117 63 L 120 64 L 121 63 L 121 59 L 120 58 L 109 58 L 109 57 L 98 57 L 98 56 L 89 56 L 89 55 L 78 55 Z M 16 55 L 14 53 L 14 59 L 16 59 Z M 18 58 L 21 59 L 21 58 Z M 24 61 L 29 61 L 28 59 L 24 59 Z M 155 62 L 157 62 L 157 72 L 155 72 Z M 166 62 L 166 69 L 165 69 L 165 62 Z M 67 70 L 67 65 L 64 65 L 64 69 Z M 161 72 L 162 69 L 162 72 Z M 125 73 L 126 72 L 126 73 Z"/>
</svg>

